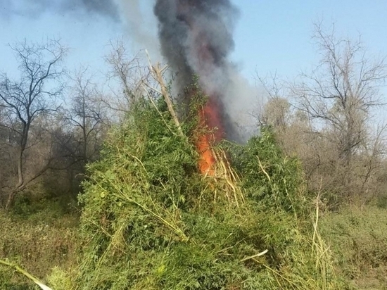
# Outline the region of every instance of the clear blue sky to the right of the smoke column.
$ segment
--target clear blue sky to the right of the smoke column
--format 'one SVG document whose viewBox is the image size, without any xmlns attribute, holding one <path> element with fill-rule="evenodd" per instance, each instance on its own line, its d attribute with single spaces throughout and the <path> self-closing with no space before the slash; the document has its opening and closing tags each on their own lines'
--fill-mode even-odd
<svg viewBox="0 0 387 290">
<path fill-rule="evenodd" d="M 336 23 L 338 35 L 362 35 L 370 53 L 387 55 L 387 1 L 373 0 L 242 0 L 236 29 L 235 58 L 243 61 L 244 73 L 262 75 L 277 70 L 292 78 L 317 63 L 312 44 L 313 22 Z"/>
</svg>

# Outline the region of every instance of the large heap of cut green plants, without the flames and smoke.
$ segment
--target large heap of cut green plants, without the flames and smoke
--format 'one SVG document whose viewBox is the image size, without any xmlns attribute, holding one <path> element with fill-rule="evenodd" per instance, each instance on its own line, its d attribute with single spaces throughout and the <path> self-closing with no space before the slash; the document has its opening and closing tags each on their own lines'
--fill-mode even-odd
<svg viewBox="0 0 387 290">
<path fill-rule="evenodd" d="M 229 161 L 203 176 L 194 127 L 180 134 L 163 100 L 143 99 L 113 130 L 84 183 L 74 287 L 346 289 L 313 225 L 298 160 L 270 130 L 214 149 Z"/>
</svg>

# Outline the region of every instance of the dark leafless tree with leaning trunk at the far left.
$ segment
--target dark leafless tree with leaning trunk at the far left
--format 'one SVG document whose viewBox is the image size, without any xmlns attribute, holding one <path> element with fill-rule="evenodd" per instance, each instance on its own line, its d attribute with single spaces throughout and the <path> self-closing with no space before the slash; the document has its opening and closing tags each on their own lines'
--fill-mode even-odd
<svg viewBox="0 0 387 290">
<path fill-rule="evenodd" d="M 58 108 L 56 101 L 63 91 L 63 83 L 59 82 L 63 75 L 61 61 L 66 52 L 55 40 L 43 45 L 24 41 L 10 47 L 19 63 L 20 80 L 11 80 L 6 74 L 0 75 L 0 106 L 8 118 L 8 122 L 2 125 L 16 139 L 18 181 L 8 196 L 6 208 L 11 206 L 15 194 L 23 191 L 46 168 L 25 179 L 25 151 L 33 145 L 30 130 L 37 118 Z"/>
</svg>

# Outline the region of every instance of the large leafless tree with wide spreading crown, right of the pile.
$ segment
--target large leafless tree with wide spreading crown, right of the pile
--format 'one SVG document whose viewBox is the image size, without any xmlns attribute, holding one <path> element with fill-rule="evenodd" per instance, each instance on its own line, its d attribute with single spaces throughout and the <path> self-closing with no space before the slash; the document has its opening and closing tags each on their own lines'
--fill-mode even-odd
<svg viewBox="0 0 387 290">
<path fill-rule="evenodd" d="M 338 39 L 334 28 L 326 33 L 322 23 L 315 24 L 314 39 L 321 61 L 291 89 L 298 108 L 315 126 L 329 128 L 331 134 L 325 136 L 336 144 L 349 168 L 360 144 L 369 137 L 370 110 L 381 105 L 379 87 L 387 77 L 386 64 L 384 59 L 367 58 L 360 39 Z"/>
</svg>

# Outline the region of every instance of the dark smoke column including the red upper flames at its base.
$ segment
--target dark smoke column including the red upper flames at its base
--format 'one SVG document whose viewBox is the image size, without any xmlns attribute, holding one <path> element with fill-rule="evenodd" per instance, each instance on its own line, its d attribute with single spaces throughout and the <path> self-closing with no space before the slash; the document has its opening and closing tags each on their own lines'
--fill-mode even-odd
<svg viewBox="0 0 387 290">
<path fill-rule="evenodd" d="M 177 73 L 180 92 L 198 75 L 201 89 L 209 96 L 204 108 L 206 124 L 218 127 L 215 139 L 224 137 L 223 130 L 233 138 L 235 130 L 224 105 L 233 70 L 228 56 L 234 49 L 232 31 L 239 11 L 229 0 L 157 0 L 153 11 L 159 21 L 161 51 Z"/>
</svg>

